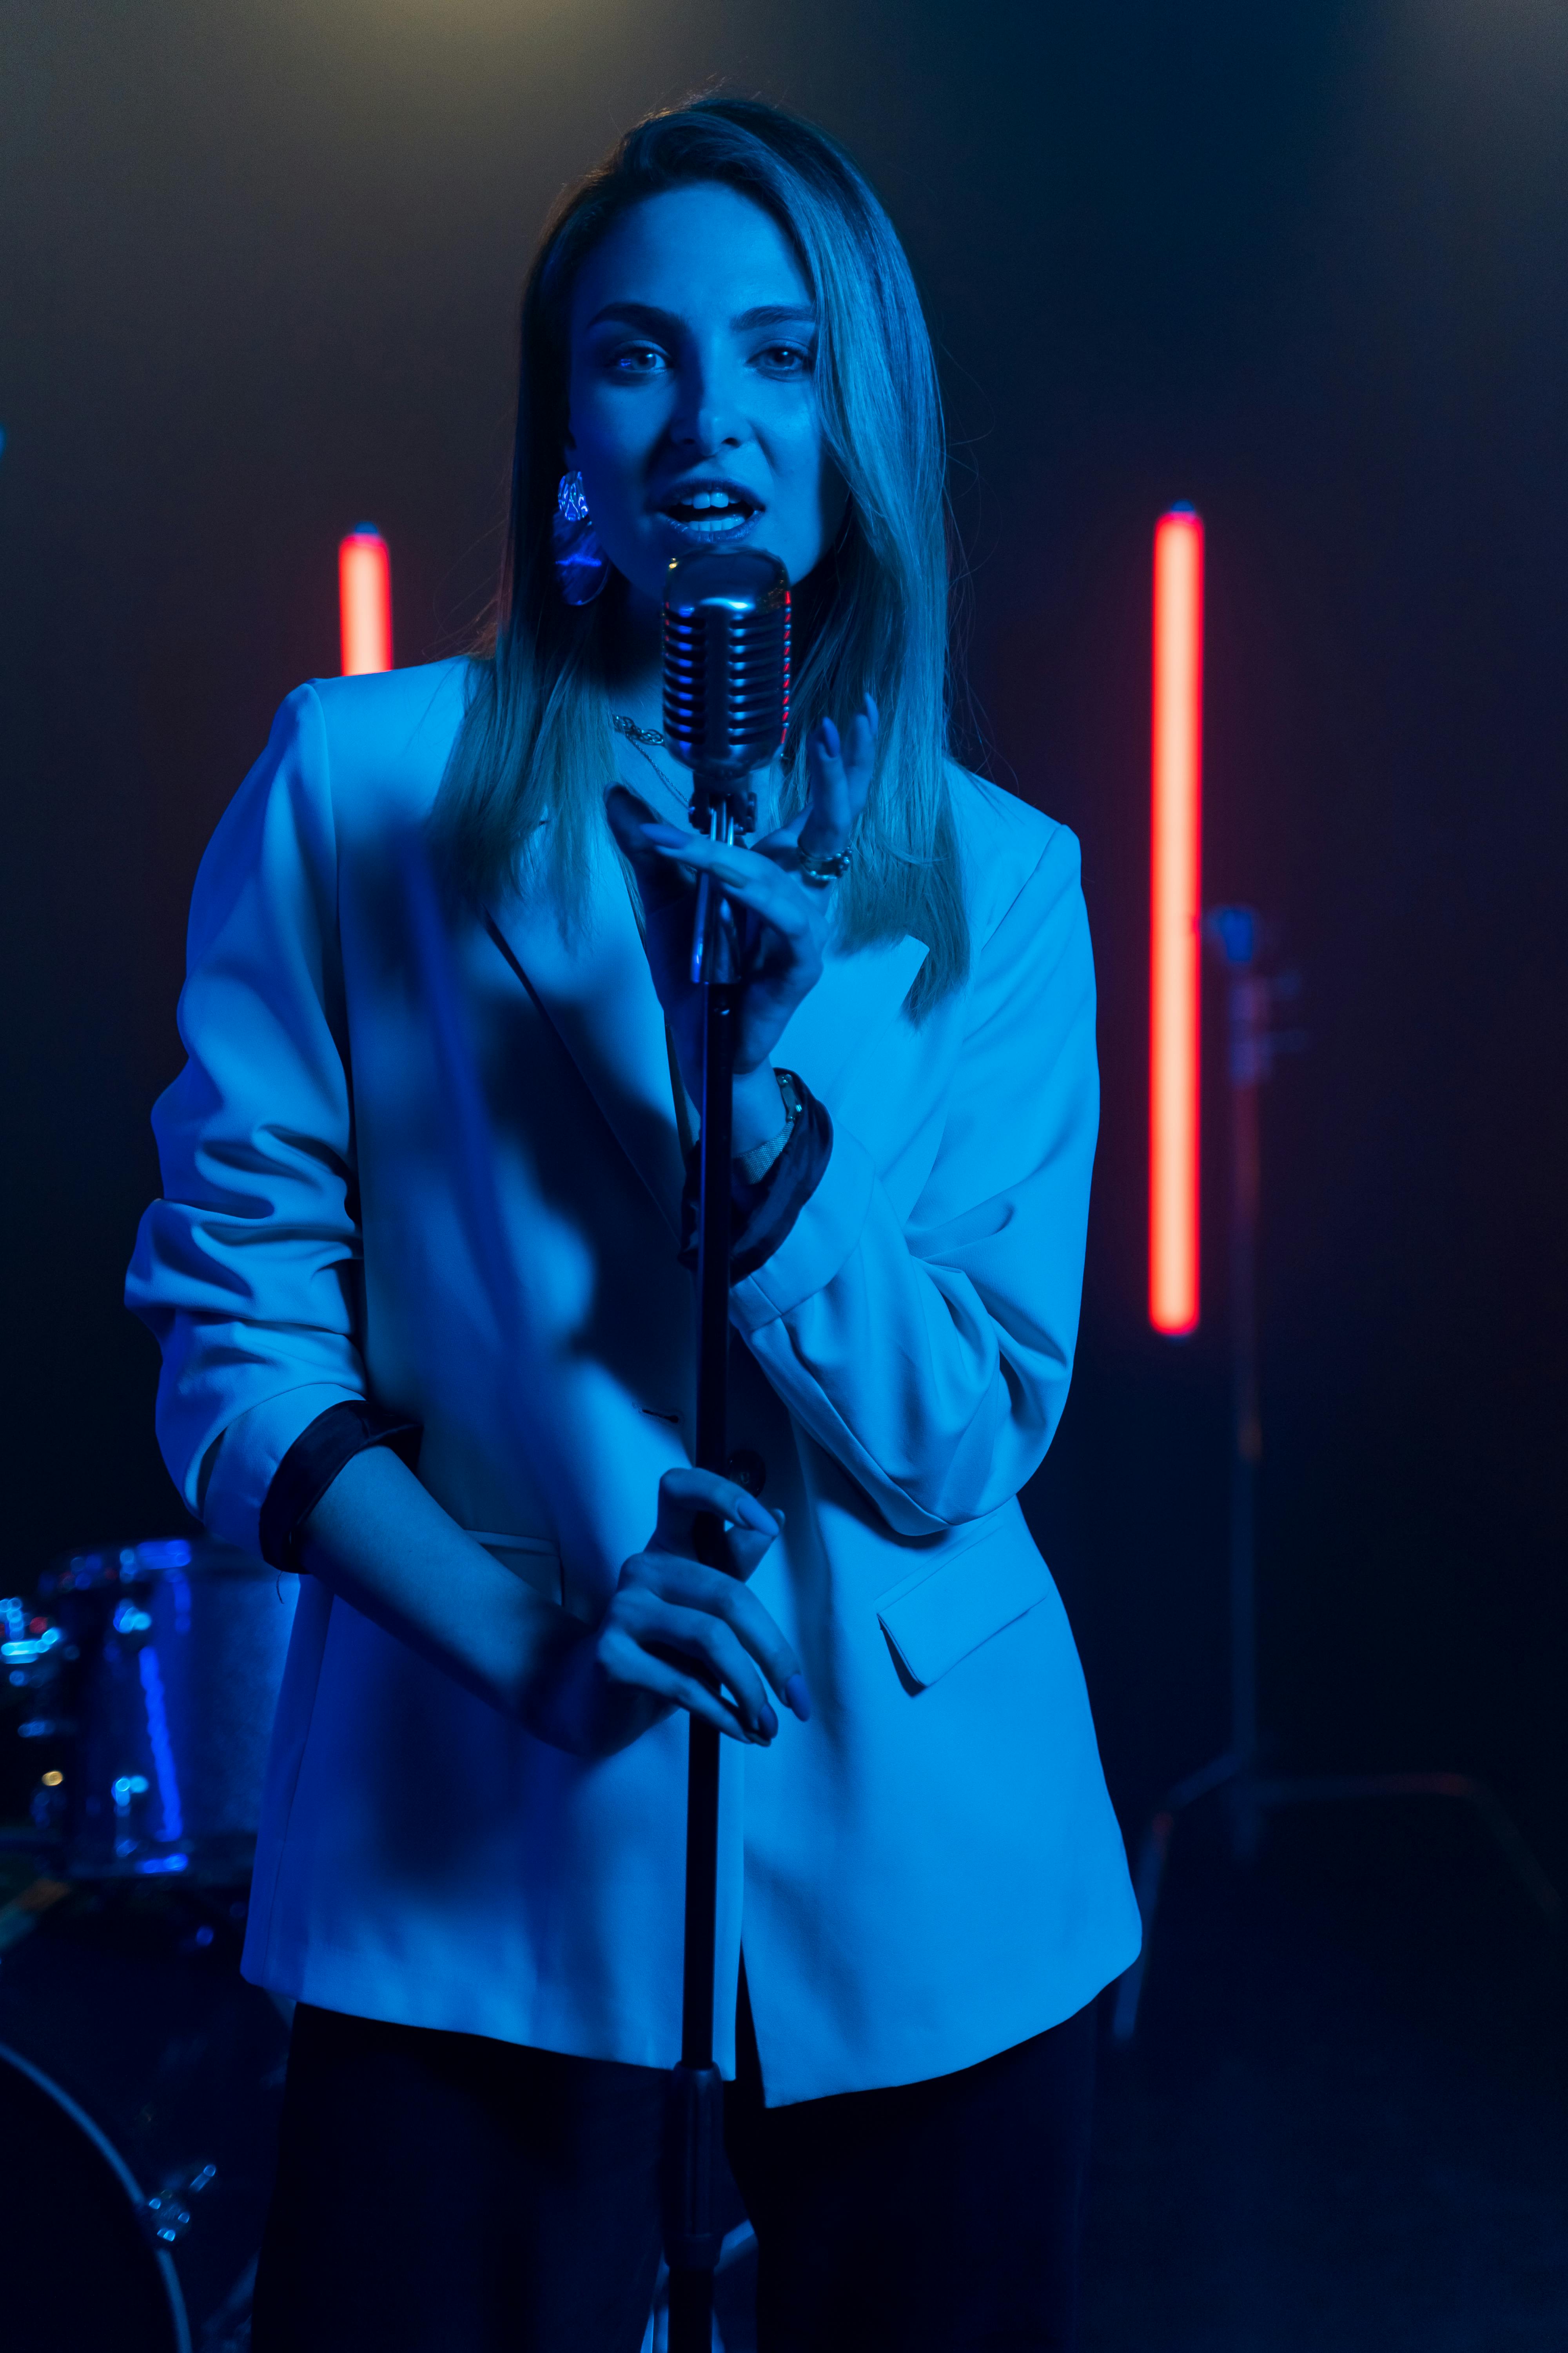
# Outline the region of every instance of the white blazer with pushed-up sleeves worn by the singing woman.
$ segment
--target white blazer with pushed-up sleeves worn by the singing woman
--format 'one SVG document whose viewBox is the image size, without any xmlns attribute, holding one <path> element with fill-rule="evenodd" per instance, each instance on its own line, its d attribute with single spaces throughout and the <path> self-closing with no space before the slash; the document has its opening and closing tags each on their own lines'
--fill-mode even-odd
<svg viewBox="0 0 1568 2353">
<path fill-rule="evenodd" d="M 202 861 L 188 1064 L 129 1304 L 207 1527 L 256 1551 L 289 1445 L 374 1395 L 418 1478 L 592 1619 L 689 1461 L 693 1297 L 665 1031 L 621 868 L 590 925 L 435 915 L 409 854 L 465 666 L 320 680 Z M 719 2064 L 741 1937 L 766 2097 L 917 2082 L 1070 2017 L 1138 1951 L 1088 1699 L 1018 1489 L 1072 1369 L 1095 1144 L 1074 838 L 954 784 L 973 972 L 835 955 L 778 1045 L 835 1146 L 733 1294 L 731 1445 L 785 1534 L 755 1588 L 809 1725 L 724 1744 Z M 303 1579 L 244 1948 L 329 2009 L 597 2059 L 679 2049 L 686 1718 L 531 1739 Z"/>
</svg>

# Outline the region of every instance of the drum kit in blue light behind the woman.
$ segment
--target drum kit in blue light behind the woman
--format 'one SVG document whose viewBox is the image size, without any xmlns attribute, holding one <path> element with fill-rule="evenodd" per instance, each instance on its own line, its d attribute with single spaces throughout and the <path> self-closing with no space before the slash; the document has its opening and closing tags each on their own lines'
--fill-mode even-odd
<svg viewBox="0 0 1568 2353">
<path fill-rule="evenodd" d="M 205 1537 L 0 1598 L 7 2353 L 242 2353 L 289 2045 L 240 1977 L 296 1579 Z"/>
</svg>

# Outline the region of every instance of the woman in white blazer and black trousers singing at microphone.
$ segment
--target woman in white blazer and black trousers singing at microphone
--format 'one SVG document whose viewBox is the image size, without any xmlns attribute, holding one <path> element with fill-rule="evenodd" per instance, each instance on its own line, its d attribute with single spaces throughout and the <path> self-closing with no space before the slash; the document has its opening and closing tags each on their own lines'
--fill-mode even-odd
<svg viewBox="0 0 1568 2353">
<path fill-rule="evenodd" d="M 715 544 L 783 560 L 797 633 L 726 852 L 658 734 L 663 574 Z M 686 1711 L 729 1737 L 762 2344 L 1070 2344 L 1138 1920 L 1016 1494 L 1093 972 L 1072 835 L 945 755 L 945 602 L 903 249 L 825 136 L 703 99 L 545 228 L 491 652 L 301 687 L 207 852 L 129 1299 L 190 1508 L 308 1572 L 247 1939 L 299 2002 L 259 2348 L 637 2346 Z M 745 946 L 736 1480 L 689 1457 L 703 866 Z"/>
</svg>

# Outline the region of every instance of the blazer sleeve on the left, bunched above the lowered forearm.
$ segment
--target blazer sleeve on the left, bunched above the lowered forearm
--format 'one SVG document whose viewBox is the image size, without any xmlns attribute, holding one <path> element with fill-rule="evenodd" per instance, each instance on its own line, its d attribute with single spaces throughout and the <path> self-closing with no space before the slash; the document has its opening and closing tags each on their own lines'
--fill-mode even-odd
<svg viewBox="0 0 1568 2353">
<path fill-rule="evenodd" d="M 212 838 L 179 1002 L 186 1068 L 153 1111 L 162 1200 L 127 1306 L 162 1348 L 158 1442 L 186 1506 L 259 1551 L 282 1457 L 364 1400 L 353 1092 L 327 729 L 287 699 Z"/>
</svg>

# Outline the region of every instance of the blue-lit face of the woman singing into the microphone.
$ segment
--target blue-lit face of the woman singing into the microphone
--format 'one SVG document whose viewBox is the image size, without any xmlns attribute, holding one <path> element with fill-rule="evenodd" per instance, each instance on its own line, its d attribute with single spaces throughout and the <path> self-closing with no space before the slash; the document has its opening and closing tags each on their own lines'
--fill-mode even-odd
<svg viewBox="0 0 1568 2353">
<path fill-rule="evenodd" d="M 844 520 L 823 447 L 816 311 L 778 224 L 733 188 L 651 195 L 571 294 L 571 431 L 595 529 L 663 602 L 672 555 L 766 548 L 799 581 Z"/>
</svg>

